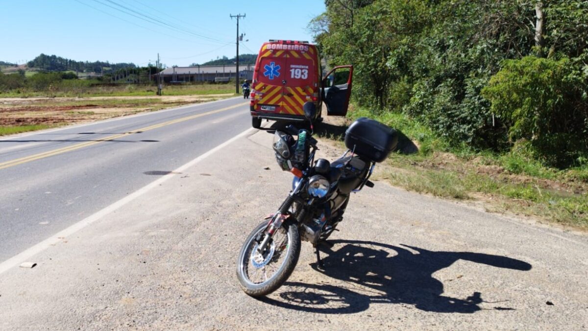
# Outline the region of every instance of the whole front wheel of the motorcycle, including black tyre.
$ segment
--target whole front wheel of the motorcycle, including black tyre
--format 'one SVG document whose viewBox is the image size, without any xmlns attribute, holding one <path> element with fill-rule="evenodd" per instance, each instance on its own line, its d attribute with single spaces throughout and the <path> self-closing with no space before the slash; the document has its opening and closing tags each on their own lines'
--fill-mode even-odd
<svg viewBox="0 0 588 331">
<path fill-rule="evenodd" d="M 249 234 L 237 260 L 237 277 L 243 292 L 253 297 L 266 296 L 282 286 L 300 256 L 298 227 L 290 222 L 284 222 L 273 234 L 267 249 L 260 252 L 256 239 L 263 240 L 267 226 L 268 221 L 264 221 Z"/>
</svg>

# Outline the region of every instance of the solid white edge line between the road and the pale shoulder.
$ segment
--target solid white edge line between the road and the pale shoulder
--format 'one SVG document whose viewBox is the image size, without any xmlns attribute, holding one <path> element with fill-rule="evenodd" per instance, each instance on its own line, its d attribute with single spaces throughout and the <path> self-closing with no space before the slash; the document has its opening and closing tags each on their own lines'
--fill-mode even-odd
<svg viewBox="0 0 588 331">
<path fill-rule="evenodd" d="M 105 207 L 102 210 L 97 211 L 96 213 L 92 214 L 91 216 L 88 216 L 85 219 L 79 221 L 78 223 L 75 223 L 64 230 L 59 231 L 58 233 L 54 234 L 53 236 L 49 237 L 48 239 L 45 239 L 45 240 L 41 241 L 40 243 L 35 244 L 32 247 L 29 247 L 29 249 L 26 249 L 26 250 L 22 251 L 21 253 L 16 254 L 15 256 L 11 257 L 10 259 L 5 260 L 4 262 L 0 263 L 0 274 L 6 272 L 9 269 L 12 269 L 13 267 L 17 266 L 18 264 L 20 264 L 22 262 L 25 262 L 26 260 L 28 260 L 29 258 L 34 256 L 35 254 L 41 253 L 45 249 L 48 249 L 49 247 L 54 246 L 55 244 L 59 243 L 59 241 L 61 241 L 61 239 L 59 239 L 59 238 L 65 238 L 65 237 L 71 236 L 72 234 L 76 233 L 79 230 L 82 230 L 86 226 L 89 226 L 90 224 L 94 223 L 95 221 L 98 221 L 99 219 L 108 215 L 109 213 L 112 213 L 113 211 L 117 210 L 118 208 L 121 208 L 122 206 L 125 206 L 125 204 L 128 204 L 129 202 L 131 202 L 131 201 L 135 200 L 136 198 L 142 196 L 143 194 L 147 193 L 153 187 L 159 186 L 159 184 L 169 180 L 170 178 L 172 178 L 173 176 L 176 175 L 175 173 L 181 173 L 182 171 L 186 170 L 187 168 L 194 166 L 195 164 L 197 164 L 200 161 L 204 160 L 205 158 L 209 157 L 211 154 L 226 147 L 226 145 L 233 143 L 233 141 L 238 140 L 239 138 L 242 138 L 243 136 L 249 134 L 253 130 L 255 130 L 255 129 L 249 128 L 248 130 L 243 131 L 242 133 L 236 135 L 235 137 L 230 138 L 229 140 L 225 141 L 224 143 L 212 148 L 212 150 L 209 150 L 206 153 L 199 155 L 198 157 L 196 157 L 192 161 L 189 161 L 188 163 L 184 164 L 183 166 L 177 168 L 172 173 L 166 174 L 165 176 L 162 176 L 161 178 L 158 178 L 157 180 L 152 181 L 151 183 L 147 184 L 146 186 L 139 188 L 139 190 L 136 190 L 135 192 L 129 194 L 128 196 L 122 198 L 121 200 L 116 201 L 115 203 L 111 204 L 110 206 Z"/>
</svg>

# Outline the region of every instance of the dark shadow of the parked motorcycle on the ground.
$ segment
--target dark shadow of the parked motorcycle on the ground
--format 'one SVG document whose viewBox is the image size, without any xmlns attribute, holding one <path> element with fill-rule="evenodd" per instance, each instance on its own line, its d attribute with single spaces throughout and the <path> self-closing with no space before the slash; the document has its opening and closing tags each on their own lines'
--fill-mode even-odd
<svg viewBox="0 0 588 331">
<path fill-rule="evenodd" d="M 372 241 L 329 242 L 334 244 L 332 248 L 320 249 L 324 268 L 316 262 L 310 266 L 326 276 L 342 280 L 345 287 L 286 282 L 277 295 L 262 301 L 326 314 L 357 313 L 368 309 L 370 303 L 406 304 L 426 312 L 475 313 L 482 310 L 479 304 L 484 302 L 480 292 L 473 292 L 466 299 L 444 296 L 443 283 L 433 278 L 433 273 L 457 260 L 522 271 L 532 268 L 529 263 L 491 254 L 430 251 Z M 500 306 L 494 309 L 513 310 Z"/>
</svg>

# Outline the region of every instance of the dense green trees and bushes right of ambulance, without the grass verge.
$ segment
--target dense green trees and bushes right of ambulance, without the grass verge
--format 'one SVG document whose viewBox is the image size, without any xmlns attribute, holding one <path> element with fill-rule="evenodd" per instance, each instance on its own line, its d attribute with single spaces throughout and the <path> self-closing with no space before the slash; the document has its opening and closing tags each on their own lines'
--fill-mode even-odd
<svg viewBox="0 0 588 331">
<path fill-rule="evenodd" d="M 586 166 L 588 2 L 326 0 L 326 8 L 309 27 L 330 65 L 355 65 L 360 107 L 406 114 L 454 150 L 524 144 L 544 166 Z"/>
</svg>

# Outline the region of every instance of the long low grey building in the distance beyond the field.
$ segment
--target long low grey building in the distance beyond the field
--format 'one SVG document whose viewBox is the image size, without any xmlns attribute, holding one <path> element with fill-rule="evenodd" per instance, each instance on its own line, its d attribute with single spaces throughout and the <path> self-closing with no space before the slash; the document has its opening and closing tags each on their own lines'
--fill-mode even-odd
<svg viewBox="0 0 588 331">
<path fill-rule="evenodd" d="M 219 82 L 235 79 L 235 65 L 197 65 L 196 67 L 166 68 L 161 71 L 163 82 Z M 252 64 L 239 65 L 239 81 L 253 78 Z M 155 74 L 156 76 L 157 74 Z"/>
</svg>

